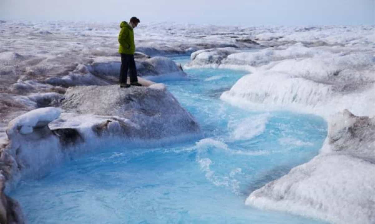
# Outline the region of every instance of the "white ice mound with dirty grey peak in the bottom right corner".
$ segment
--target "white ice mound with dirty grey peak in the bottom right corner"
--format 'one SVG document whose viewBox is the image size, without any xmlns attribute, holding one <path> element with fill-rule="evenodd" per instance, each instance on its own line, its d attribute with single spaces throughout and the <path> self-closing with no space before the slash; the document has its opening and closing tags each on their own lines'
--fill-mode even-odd
<svg viewBox="0 0 375 224">
<path fill-rule="evenodd" d="M 255 190 L 246 204 L 337 224 L 375 223 L 374 136 L 375 118 L 337 114 L 320 155 Z"/>
</svg>

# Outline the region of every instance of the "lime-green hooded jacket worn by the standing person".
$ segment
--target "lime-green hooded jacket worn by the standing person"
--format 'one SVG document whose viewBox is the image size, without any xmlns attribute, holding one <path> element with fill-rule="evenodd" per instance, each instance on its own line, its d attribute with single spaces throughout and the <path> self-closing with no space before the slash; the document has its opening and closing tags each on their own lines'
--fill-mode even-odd
<svg viewBox="0 0 375 224">
<path fill-rule="evenodd" d="M 125 21 L 121 22 L 120 28 L 121 31 L 120 34 L 118 34 L 118 43 L 120 43 L 120 47 L 118 47 L 118 53 L 134 55 L 135 44 L 133 28 L 130 27 L 130 25 Z"/>
</svg>

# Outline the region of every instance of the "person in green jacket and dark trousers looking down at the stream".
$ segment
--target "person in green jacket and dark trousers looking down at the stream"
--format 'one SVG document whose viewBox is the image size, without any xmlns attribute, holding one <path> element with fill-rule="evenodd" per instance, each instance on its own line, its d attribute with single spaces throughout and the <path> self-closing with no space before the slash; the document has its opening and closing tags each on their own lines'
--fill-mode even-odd
<svg viewBox="0 0 375 224">
<path fill-rule="evenodd" d="M 120 34 L 118 34 L 118 53 L 121 54 L 121 68 L 120 68 L 120 87 L 130 87 L 130 85 L 141 86 L 138 83 L 137 69 L 134 61 L 134 32 L 133 29 L 139 24 L 139 19 L 136 17 L 130 18 L 129 24 L 122 21 L 120 24 Z M 130 71 L 130 85 L 127 81 L 127 70 Z"/>
</svg>

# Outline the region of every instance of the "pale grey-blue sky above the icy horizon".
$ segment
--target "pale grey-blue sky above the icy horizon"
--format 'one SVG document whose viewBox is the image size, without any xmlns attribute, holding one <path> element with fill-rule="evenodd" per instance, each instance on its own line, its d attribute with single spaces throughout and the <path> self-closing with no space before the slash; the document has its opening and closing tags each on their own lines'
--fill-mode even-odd
<svg viewBox="0 0 375 224">
<path fill-rule="evenodd" d="M 0 19 L 117 22 L 131 16 L 141 23 L 375 24 L 375 0 L 0 0 Z"/>
</svg>

